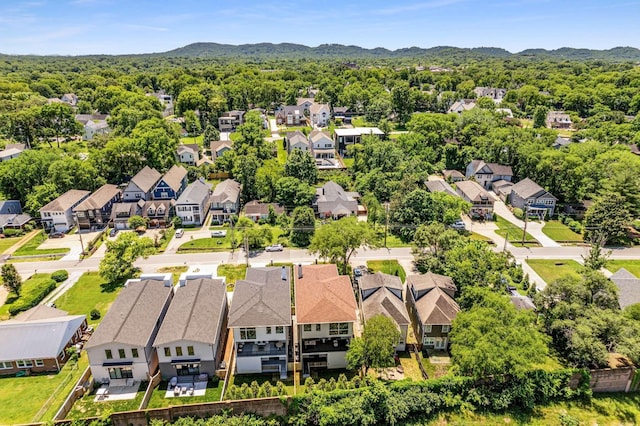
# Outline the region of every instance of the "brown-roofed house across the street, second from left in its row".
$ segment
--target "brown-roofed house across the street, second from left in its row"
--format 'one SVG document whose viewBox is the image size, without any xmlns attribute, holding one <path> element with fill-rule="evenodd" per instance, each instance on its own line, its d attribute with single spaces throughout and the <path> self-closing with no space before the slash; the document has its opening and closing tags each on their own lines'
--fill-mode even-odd
<svg viewBox="0 0 640 426">
<path fill-rule="evenodd" d="M 117 186 L 102 185 L 72 210 L 78 218 L 80 229 L 102 228 L 111 219 L 111 208 L 120 201 L 122 192 Z"/>
</svg>

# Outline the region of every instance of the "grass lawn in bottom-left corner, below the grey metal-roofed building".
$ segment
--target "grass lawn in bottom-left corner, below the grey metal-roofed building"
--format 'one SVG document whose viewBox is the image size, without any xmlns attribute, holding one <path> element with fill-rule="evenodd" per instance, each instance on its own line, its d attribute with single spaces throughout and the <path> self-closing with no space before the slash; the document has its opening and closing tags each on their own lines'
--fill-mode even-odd
<svg viewBox="0 0 640 426">
<path fill-rule="evenodd" d="M 0 424 L 50 421 L 89 365 L 87 355 L 56 374 L 0 378 Z"/>
</svg>

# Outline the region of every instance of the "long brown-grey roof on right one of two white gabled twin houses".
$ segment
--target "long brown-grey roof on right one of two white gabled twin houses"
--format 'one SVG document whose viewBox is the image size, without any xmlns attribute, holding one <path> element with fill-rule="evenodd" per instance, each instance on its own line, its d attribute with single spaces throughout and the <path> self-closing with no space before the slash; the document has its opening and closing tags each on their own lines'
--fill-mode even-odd
<svg viewBox="0 0 640 426">
<path fill-rule="evenodd" d="M 176 289 L 153 346 L 181 340 L 215 344 L 226 308 L 227 286 L 223 280 L 187 280 Z"/>
</svg>

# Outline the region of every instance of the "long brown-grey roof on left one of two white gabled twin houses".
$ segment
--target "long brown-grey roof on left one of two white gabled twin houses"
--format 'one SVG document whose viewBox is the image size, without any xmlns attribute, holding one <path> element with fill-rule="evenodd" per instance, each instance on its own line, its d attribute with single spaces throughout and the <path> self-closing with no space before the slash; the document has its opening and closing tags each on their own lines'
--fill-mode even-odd
<svg viewBox="0 0 640 426">
<path fill-rule="evenodd" d="M 163 281 L 129 281 L 85 348 L 111 343 L 146 346 L 172 292 L 173 288 Z"/>
</svg>

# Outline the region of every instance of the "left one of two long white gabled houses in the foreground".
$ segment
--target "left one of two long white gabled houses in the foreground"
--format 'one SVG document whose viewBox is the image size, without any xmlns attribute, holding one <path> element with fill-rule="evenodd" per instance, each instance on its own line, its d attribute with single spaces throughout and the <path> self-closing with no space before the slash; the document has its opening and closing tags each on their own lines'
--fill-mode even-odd
<svg viewBox="0 0 640 426">
<path fill-rule="evenodd" d="M 155 374 L 153 342 L 173 298 L 172 282 L 165 274 L 125 283 L 85 345 L 96 383 L 139 382 Z"/>
</svg>

